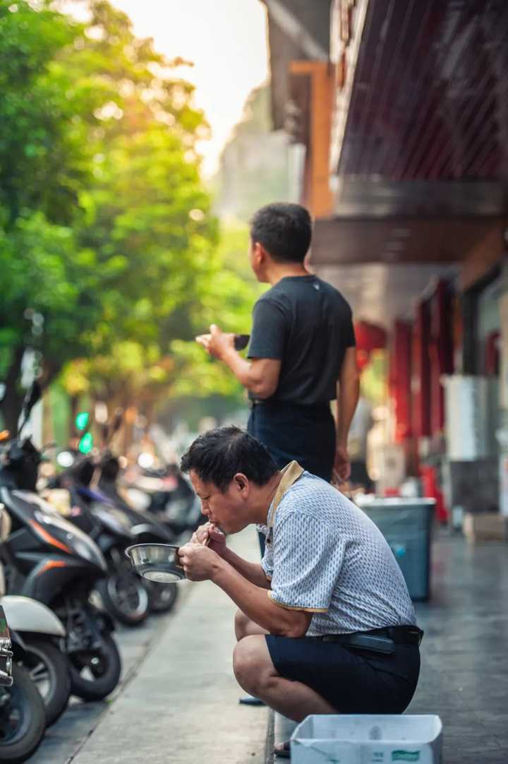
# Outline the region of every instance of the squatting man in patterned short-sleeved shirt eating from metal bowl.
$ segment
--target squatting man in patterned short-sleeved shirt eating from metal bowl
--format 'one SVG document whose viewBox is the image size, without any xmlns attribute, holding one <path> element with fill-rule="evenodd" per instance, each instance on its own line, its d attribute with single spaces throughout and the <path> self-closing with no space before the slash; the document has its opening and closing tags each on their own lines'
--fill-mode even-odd
<svg viewBox="0 0 508 764">
<path fill-rule="evenodd" d="M 422 632 L 399 565 L 367 515 L 296 461 L 278 470 L 236 427 L 200 435 L 182 469 L 209 522 L 180 548 L 180 562 L 187 578 L 213 581 L 238 607 L 241 687 L 296 721 L 402 713 L 418 681 Z M 260 564 L 226 543 L 249 525 L 266 536 Z M 277 751 L 286 752 L 286 744 Z"/>
</svg>

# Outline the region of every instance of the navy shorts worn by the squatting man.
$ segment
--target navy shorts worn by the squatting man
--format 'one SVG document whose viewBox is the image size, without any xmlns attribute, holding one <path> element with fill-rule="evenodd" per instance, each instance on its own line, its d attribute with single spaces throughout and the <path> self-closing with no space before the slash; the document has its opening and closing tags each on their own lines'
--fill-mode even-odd
<svg viewBox="0 0 508 764">
<path fill-rule="evenodd" d="M 312 688 L 339 714 L 402 714 L 416 690 L 416 645 L 396 645 L 385 656 L 305 637 L 266 639 L 277 674 Z"/>
</svg>

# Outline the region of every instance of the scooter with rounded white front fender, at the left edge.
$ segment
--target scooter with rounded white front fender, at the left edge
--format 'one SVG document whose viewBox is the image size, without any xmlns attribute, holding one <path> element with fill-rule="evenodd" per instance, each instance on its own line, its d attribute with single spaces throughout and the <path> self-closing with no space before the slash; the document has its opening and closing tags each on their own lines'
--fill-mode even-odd
<svg viewBox="0 0 508 764">
<path fill-rule="evenodd" d="M 10 533 L 10 521 L 0 505 L 2 536 Z M 0 565 L 0 594 L 5 592 L 5 579 Z M 70 672 L 66 656 L 60 650 L 65 639 L 61 621 L 49 607 L 30 597 L 2 596 L 2 607 L 11 630 L 14 660 L 26 669 L 44 701 L 46 725 L 60 718 L 70 697 Z M 1 759 L 1 756 L 0 756 Z"/>
</svg>

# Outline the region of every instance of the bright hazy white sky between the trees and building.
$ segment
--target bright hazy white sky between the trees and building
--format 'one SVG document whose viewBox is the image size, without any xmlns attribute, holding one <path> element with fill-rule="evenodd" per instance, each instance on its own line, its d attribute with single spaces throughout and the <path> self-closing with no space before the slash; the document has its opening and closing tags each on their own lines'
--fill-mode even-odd
<svg viewBox="0 0 508 764">
<path fill-rule="evenodd" d="M 160 53 L 193 61 L 176 70 L 196 85 L 212 138 L 199 144 L 203 170 L 218 155 L 241 116 L 251 89 L 267 79 L 267 35 L 260 0 L 111 0 L 127 13 L 140 37 L 154 37 Z"/>
</svg>

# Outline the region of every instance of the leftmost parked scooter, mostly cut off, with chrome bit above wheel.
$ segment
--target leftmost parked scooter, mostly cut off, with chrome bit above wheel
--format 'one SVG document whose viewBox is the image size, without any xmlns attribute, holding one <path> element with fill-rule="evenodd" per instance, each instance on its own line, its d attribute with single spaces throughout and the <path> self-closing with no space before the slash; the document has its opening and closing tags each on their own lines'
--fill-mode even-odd
<svg viewBox="0 0 508 764">
<path fill-rule="evenodd" d="M 0 761 L 19 764 L 37 750 L 46 712 L 28 672 L 13 662 L 11 635 L 0 605 Z"/>
</svg>

